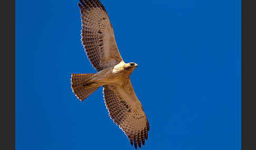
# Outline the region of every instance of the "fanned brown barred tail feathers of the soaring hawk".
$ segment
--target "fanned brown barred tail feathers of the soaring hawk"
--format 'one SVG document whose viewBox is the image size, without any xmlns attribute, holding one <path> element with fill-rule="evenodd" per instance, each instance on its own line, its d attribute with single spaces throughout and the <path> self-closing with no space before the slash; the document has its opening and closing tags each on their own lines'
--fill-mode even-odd
<svg viewBox="0 0 256 150">
<path fill-rule="evenodd" d="M 87 74 L 76 74 L 73 73 L 71 76 L 71 88 L 73 93 L 80 101 L 84 101 L 89 95 L 91 95 L 97 88 L 99 87 L 92 87 L 86 88 L 85 84 L 89 80 L 94 73 L 87 73 Z"/>
</svg>

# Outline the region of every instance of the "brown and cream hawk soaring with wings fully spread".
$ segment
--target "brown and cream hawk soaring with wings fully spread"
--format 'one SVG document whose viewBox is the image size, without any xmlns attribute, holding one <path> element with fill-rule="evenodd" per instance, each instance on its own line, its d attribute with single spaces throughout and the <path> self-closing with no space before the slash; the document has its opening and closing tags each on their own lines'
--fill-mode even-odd
<svg viewBox="0 0 256 150">
<path fill-rule="evenodd" d="M 117 49 L 113 28 L 106 9 L 98 0 L 80 0 L 81 41 L 88 59 L 97 73 L 72 73 L 71 88 L 83 101 L 103 86 L 109 115 L 129 138 L 134 147 L 145 145 L 149 122 L 137 99 L 130 74 L 136 63 L 125 63 Z"/>
</svg>

